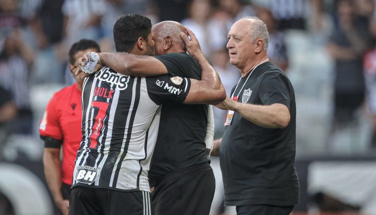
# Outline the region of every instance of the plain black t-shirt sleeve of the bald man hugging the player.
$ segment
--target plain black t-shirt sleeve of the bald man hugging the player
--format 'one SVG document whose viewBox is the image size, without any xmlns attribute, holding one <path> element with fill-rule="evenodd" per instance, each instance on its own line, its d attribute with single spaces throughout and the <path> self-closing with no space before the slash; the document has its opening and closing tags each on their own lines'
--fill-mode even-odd
<svg viewBox="0 0 376 215">
<path fill-rule="evenodd" d="M 154 57 L 166 66 L 168 73 L 172 76 L 201 79 L 201 66 L 189 54 L 168 53 Z"/>
</svg>

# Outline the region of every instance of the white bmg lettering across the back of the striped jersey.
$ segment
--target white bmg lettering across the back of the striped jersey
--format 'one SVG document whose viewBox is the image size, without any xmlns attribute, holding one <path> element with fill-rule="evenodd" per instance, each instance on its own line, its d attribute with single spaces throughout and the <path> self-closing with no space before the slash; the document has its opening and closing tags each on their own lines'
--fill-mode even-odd
<svg viewBox="0 0 376 215">
<path fill-rule="evenodd" d="M 126 89 L 128 87 L 129 76 L 109 70 L 110 68 L 105 66 L 95 74 L 95 77 L 102 81 L 115 84 L 116 88 L 119 90 Z"/>
</svg>

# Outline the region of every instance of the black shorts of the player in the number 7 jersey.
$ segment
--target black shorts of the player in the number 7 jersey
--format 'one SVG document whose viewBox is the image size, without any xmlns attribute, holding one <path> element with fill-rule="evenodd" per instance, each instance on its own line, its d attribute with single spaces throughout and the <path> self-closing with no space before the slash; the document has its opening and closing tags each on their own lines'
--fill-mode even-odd
<svg viewBox="0 0 376 215">
<path fill-rule="evenodd" d="M 69 215 L 104 214 L 151 215 L 150 192 L 84 186 L 72 188 Z"/>
</svg>

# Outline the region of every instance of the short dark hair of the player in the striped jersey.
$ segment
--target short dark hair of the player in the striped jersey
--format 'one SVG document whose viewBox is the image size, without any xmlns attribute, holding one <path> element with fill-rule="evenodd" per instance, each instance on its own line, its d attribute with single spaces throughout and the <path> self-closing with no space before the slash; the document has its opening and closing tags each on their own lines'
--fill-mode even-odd
<svg viewBox="0 0 376 215">
<path fill-rule="evenodd" d="M 121 16 L 114 24 L 114 42 L 116 51 L 130 52 L 139 37 L 148 41 L 151 21 L 140 14 Z"/>
</svg>

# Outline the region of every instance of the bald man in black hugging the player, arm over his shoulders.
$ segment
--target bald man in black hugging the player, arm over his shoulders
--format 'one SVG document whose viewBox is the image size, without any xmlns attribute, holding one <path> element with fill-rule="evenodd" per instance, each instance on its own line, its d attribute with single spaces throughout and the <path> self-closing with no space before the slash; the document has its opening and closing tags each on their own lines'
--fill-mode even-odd
<svg viewBox="0 0 376 215">
<path fill-rule="evenodd" d="M 185 30 L 179 22 L 159 22 L 152 27 L 155 54 L 159 56 L 98 53 L 99 62 L 131 76 L 169 73 L 201 79 L 201 67 L 186 54 L 180 37 L 185 36 L 180 35 Z M 161 82 L 160 87 L 166 86 Z M 155 187 L 155 214 L 209 214 L 215 178 L 205 144 L 208 105 L 163 103 L 160 117 L 148 174 L 150 186 Z"/>
</svg>

